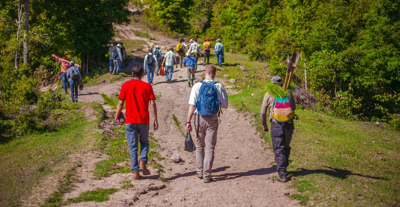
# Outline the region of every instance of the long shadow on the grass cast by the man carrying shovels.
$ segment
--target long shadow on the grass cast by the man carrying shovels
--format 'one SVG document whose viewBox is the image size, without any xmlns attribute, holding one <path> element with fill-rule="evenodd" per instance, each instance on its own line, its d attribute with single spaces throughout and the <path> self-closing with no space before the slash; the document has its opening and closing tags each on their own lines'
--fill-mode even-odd
<svg viewBox="0 0 400 207">
<path fill-rule="evenodd" d="M 329 176 L 332 176 L 332 177 L 337 177 L 337 178 L 340 178 L 340 179 L 346 179 L 346 178 L 348 178 L 348 175 L 357 175 L 357 176 L 368 177 L 368 178 L 372 178 L 372 179 L 389 180 L 389 179 L 386 179 L 384 177 L 374 177 L 374 176 L 369 176 L 369 175 L 362 175 L 362 174 L 359 174 L 359 173 L 353 173 L 350 170 L 343 170 L 343 169 L 332 168 L 332 167 L 327 167 L 327 166 L 322 166 L 322 167 L 329 168 L 330 170 L 322 170 L 322 169 L 308 170 L 308 169 L 300 168 L 300 170 L 289 171 L 289 173 L 292 173 L 292 175 L 294 175 L 294 176 L 310 175 L 310 174 L 325 174 L 325 175 L 329 175 Z"/>
</svg>

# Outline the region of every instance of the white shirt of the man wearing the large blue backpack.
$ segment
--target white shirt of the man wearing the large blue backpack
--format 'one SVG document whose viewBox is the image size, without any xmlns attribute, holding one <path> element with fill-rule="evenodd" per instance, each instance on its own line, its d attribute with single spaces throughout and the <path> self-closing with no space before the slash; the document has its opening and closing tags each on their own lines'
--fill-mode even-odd
<svg viewBox="0 0 400 207">
<path fill-rule="evenodd" d="M 204 82 L 210 83 L 214 81 L 212 78 L 206 78 L 204 79 Z M 192 91 L 190 92 L 190 97 L 189 97 L 189 104 L 191 105 L 196 105 L 197 102 L 197 97 L 199 95 L 200 87 L 202 83 L 198 82 L 195 83 L 192 87 Z M 217 95 L 218 95 L 218 101 L 220 101 L 220 106 L 222 108 L 228 108 L 228 95 L 226 95 L 226 91 L 224 87 L 222 86 L 221 83 L 215 83 L 214 86 L 217 88 Z M 197 114 L 197 108 L 194 111 L 195 114 Z"/>
</svg>

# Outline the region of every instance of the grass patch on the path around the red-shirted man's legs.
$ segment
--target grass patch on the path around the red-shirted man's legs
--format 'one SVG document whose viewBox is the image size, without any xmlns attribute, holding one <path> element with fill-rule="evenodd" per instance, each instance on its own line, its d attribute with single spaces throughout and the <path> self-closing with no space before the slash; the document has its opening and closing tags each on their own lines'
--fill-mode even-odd
<svg viewBox="0 0 400 207">
<path fill-rule="evenodd" d="M 114 128 L 113 136 L 111 137 L 112 138 L 106 138 L 106 136 L 103 136 L 96 144 L 98 148 L 100 148 L 104 153 L 110 156 L 108 160 L 102 160 L 96 163 L 93 175 L 97 179 L 112 175 L 114 173 L 132 172 L 130 164 L 131 163 L 130 153 L 128 150 L 128 143 L 126 142 L 125 125 Z M 149 141 L 150 144 L 149 144 L 148 160 L 152 160 L 153 158 L 157 159 L 161 157 L 156 150 L 156 148 L 159 148 L 160 146 L 156 143 L 152 133 L 149 134 Z M 122 162 L 125 162 L 126 165 L 124 166 L 117 165 L 118 163 Z M 162 166 L 156 166 L 156 167 L 157 169 L 160 168 L 162 170 Z"/>
</svg>

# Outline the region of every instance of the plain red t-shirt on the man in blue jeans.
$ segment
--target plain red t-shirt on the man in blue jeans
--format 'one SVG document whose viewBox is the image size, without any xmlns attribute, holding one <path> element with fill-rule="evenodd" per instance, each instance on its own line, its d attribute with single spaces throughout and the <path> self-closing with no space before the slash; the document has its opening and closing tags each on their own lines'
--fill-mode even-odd
<svg viewBox="0 0 400 207">
<path fill-rule="evenodd" d="M 149 101 L 156 97 L 149 83 L 140 80 L 125 82 L 118 99 L 126 101 L 126 123 L 147 124 L 150 122 Z"/>
</svg>

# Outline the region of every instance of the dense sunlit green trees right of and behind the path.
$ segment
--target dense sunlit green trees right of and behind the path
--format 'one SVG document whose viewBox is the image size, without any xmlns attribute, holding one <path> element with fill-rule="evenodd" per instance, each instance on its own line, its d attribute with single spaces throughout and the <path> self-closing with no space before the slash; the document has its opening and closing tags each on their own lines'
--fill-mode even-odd
<svg viewBox="0 0 400 207">
<path fill-rule="evenodd" d="M 168 12 L 166 7 L 158 10 L 160 7 L 155 6 L 167 4 L 164 1 L 152 2 L 144 9 L 143 18 L 152 22 L 177 18 L 163 15 Z M 221 38 L 225 51 L 269 61 L 272 75 L 284 75 L 287 55 L 298 51 L 301 58 L 294 81 L 304 86 L 306 67 L 308 88 L 317 95 L 321 110 L 366 120 L 387 121 L 387 114 L 392 114 L 398 120 L 399 112 L 376 97 L 400 90 L 398 1 L 176 2 L 180 2 L 174 8 L 181 11 L 179 21 L 183 24 L 161 24 L 168 34 Z M 190 8 L 185 7 L 187 4 Z M 151 15 L 147 11 L 152 11 Z"/>
</svg>

